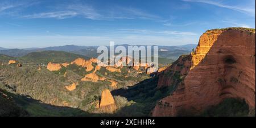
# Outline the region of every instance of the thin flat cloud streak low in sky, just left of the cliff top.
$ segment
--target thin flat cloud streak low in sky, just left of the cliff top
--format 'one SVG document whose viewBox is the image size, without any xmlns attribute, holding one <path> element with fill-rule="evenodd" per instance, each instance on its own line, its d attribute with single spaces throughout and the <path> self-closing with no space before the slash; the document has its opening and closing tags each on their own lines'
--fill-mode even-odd
<svg viewBox="0 0 256 128">
<path fill-rule="evenodd" d="M 180 31 L 154 31 L 154 30 L 139 30 L 139 29 L 119 29 L 121 32 L 137 33 L 137 34 L 164 34 L 164 35 L 197 35 L 194 32 L 180 32 Z"/>
</svg>

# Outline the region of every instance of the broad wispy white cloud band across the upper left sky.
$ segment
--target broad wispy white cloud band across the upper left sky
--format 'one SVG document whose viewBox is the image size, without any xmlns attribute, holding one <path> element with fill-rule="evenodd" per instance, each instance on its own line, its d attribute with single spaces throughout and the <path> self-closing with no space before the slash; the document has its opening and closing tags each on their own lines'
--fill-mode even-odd
<svg viewBox="0 0 256 128">
<path fill-rule="evenodd" d="M 32 1 L 32 0 L 31 0 Z M 5 10 L 18 10 L 20 6 L 28 6 L 28 2 L 5 2 L 0 3 L 0 13 Z M 71 2 L 68 5 L 61 5 L 56 3 L 54 7 L 46 7 L 47 11 L 36 13 L 19 13 L 19 18 L 56 18 L 65 19 L 74 16 L 81 16 L 86 19 L 96 20 L 110 20 L 110 19 L 156 19 L 159 16 L 147 13 L 143 10 L 135 9 L 133 7 L 123 6 L 106 6 L 104 9 L 97 9 L 96 7 L 87 3 Z M 17 16 L 17 15 L 15 15 Z"/>
</svg>

